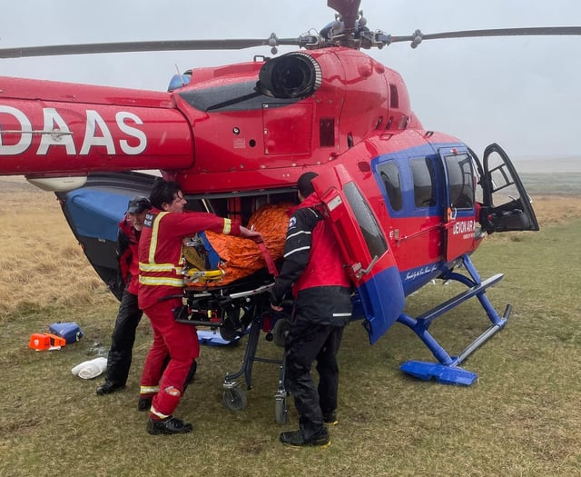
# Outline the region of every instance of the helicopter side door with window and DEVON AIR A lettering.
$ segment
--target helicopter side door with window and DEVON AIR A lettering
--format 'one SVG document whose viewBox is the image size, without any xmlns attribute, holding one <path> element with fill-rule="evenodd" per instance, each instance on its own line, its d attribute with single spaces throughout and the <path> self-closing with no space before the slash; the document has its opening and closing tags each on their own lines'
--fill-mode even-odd
<svg viewBox="0 0 581 477">
<path fill-rule="evenodd" d="M 476 224 L 476 176 L 468 149 L 443 148 L 438 151 L 446 184 L 444 234 L 446 260 L 474 250 Z"/>
</svg>

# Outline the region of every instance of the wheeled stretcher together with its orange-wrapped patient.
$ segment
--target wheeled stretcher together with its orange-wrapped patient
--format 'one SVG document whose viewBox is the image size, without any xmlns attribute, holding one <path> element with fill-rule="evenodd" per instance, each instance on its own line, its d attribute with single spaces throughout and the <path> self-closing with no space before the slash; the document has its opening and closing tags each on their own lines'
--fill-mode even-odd
<svg viewBox="0 0 581 477">
<path fill-rule="evenodd" d="M 240 369 L 224 377 L 223 401 L 231 411 L 247 405 L 246 391 L 252 387 L 254 363 L 279 366 L 275 393 L 275 417 L 279 423 L 287 421 L 283 358 L 275 360 L 256 353 L 261 332 L 266 341 L 283 347 L 284 333 L 289 328 L 291 306 L 287 306 L 288 312 L 275 313 L 269 295 L 278 274 L 275 261 L 281 259 L 284 248 L 289 206 L 265 204 L 251 215 L 248 226 L 261 231 L 263 243 L 210 231 L 184 239 L 184 305 L 176 312 L 177 321 L 218 330 L 225 341 L 248 336 Z M 246 389 L 241 386 L 241 378 Z"/>
</svg>

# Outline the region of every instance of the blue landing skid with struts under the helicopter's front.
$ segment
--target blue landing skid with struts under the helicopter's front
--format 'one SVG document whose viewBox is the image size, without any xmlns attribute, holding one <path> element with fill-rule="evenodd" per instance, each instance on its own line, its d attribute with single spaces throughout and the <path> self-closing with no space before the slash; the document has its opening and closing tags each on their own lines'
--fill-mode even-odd
<svg viewBox="0 0 581 477">
<path fill-rule="evenodd" d="M 411 328 L 411 330 L 419 336 L 419 339 L 428 346 L 429 351 L 436 357 L 436 359 L 438 359 L 438 363 L 407 361 L 399 367 L 399 369 L 404 373 L 408 373 L 424 381 L 435 378 L 438 383 L 442 384 L 460 384 L 469 386 L 477 380 L 478 375 L 460 368 L 459 365 L 464 362 L 470 354 L 474 353 L 479 346 L 487 342 L 488 339 L 494 336 L 507 324 L 508 316 L 512 310 L 511 305 L 507 305 L 505 313 L 501 317 L 489 302 L 486 295 L 486 289 L 502 280 L 504 275 L 502 273 L 497 273 L 483 282 L 480 280 L 478 272 L 470 261 L 468 255 L 462 257 L 462 262 L 471 278 L 455 272 L 445 273 L 441 278 L 444 280 L 455 280 L 464 283 L 469 287 L 468 290 L 459 293 L 444 303 L 440 303 L 437 307 L 421 314 L 418 318 L 412 318 L 405 313 L 399 315 L 398 322 Z M 428 333 L 428 327 L 436 318 L 438 318 L 438 316 L 450 311 L 452 308 L 458 306 L 458 304 L 464 303 L 474 296 L 478 298 L 478 301 L 486 311 L 492 324 L 487 331 L 480 334 L 480 336 L 470 343 L 464 351 L 458 354 L 458 356 L 452 357 L 444 350 L 436 339 Z"/>
</svg>

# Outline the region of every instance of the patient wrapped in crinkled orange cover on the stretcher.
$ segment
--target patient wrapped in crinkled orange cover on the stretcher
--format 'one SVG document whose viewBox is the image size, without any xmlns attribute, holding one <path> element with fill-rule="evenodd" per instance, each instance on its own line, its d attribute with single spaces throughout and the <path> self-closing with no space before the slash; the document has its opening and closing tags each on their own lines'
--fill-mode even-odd
<svg viewBox="0 0 581 477">
<path fill-rule="evenodd" d="M 288 211 L 293 205 L 263 205 L 246 225 L 262 234 L 273 262 L 282 256 L 289 224 Z M 223 286 L 256 273 L 268 266 L 266 251 L 251 240 L 211 231 L 185 239 L 182 273 L 186 277 L 186 289 Z"/>
</svg>

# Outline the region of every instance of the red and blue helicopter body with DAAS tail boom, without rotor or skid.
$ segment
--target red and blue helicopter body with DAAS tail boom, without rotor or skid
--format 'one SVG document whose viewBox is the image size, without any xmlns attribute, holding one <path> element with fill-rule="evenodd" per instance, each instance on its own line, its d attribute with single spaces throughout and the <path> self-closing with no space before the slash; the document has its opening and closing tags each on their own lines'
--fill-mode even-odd
<svg viewBox="0 0 581 477">
<path fill-rule="evenodd" d="M 449 273 L 485 232 L 537 227 L 524 190 L 494 204 L 492 174 L 515 175 L 504 174 L 507 158 L 488 167 L 485 157 L 483 167 L 458 138 L 425 131 L 401 76 L 358 50 L 261 57 L 181 78 L 149 92 L 0 77 L 0 174 L 58 181 L 159 169 L 193 201 L 243 219 L 315 171 L 371 343 L 405 296 Z"/>
</svg>

